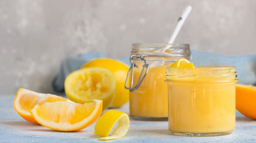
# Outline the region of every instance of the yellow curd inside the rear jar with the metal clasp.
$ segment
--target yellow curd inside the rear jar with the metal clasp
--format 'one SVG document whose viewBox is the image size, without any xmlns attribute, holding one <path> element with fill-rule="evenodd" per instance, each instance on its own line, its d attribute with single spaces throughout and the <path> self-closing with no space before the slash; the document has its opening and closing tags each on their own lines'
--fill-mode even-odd
<svg viewBox="0 0 256 143">
<path fill-rule="evenodd" d="M 164 83 L 166 66 L 149 68 L 140 85 L 130 92 L 130 115 L 139 117 L 168 117 L 168 96 Z M 134 71 L 134 80 L 138 81 L 140 71 Z"/>
</svg>

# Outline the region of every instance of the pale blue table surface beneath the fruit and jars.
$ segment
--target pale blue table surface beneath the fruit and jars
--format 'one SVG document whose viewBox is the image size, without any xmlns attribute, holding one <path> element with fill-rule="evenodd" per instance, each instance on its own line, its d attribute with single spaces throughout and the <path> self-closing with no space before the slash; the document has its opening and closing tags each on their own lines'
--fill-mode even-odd
<svg viewBox="0 0 256 143">
<path fill-rule="evenodd" d="M 30 123 L 13 109 L 15 95 L 0 94 L 0 142 L 256 142 L 256 120 L 239 112 L 236 114 L 236 130 L 230 135 L 213 137 L 189 137 L 174 135 L 168 131 L 167 121 L 138 121 L 131 119 L 128 133 L 120 139 L 99 141 L 94 126 L 77 132 L 59 132 Z M 115 110 L 129 115 L 129 105 Z"/>
</svg>

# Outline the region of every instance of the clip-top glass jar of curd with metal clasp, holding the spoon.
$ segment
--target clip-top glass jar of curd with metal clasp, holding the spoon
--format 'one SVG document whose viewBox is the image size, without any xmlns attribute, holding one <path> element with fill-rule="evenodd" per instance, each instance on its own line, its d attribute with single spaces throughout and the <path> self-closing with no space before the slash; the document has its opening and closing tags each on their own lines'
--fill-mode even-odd
<svg viewBox="0 0 256 143">
<path fill-rule="evenodd" d="M 166 67 L 180 58 L 190 59 L 188 44 L 132 45 L 131 68 L 125 83 L 125 88 L 130 90 L 131 118 L 168 120 L 168 96 L 164 76 Z"/>
</svg>

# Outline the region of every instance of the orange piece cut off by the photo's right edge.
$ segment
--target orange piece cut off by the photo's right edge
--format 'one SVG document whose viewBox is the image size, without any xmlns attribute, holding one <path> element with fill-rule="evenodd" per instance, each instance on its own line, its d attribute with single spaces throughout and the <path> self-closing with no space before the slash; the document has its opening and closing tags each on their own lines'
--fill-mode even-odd
<svg viewBox="0 0 256 143">
<path fill-rule="evenodd" d="M 236 109 L 256 120 L 256 86 L 236 84 Z"/>
</svg>

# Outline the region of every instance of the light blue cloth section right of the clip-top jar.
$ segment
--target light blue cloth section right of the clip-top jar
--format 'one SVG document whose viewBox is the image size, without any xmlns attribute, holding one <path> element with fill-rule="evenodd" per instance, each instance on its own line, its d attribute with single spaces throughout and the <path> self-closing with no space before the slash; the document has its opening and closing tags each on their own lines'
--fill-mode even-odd
<svg viewBox="0 0 256 143">
<path fill-rule="evenodd" d="M 214 52 L 191 50 L 194 65 L 235 66 L 239 84 L 256 84 L 256 55 L 226 56 Z"/>
</svg>

